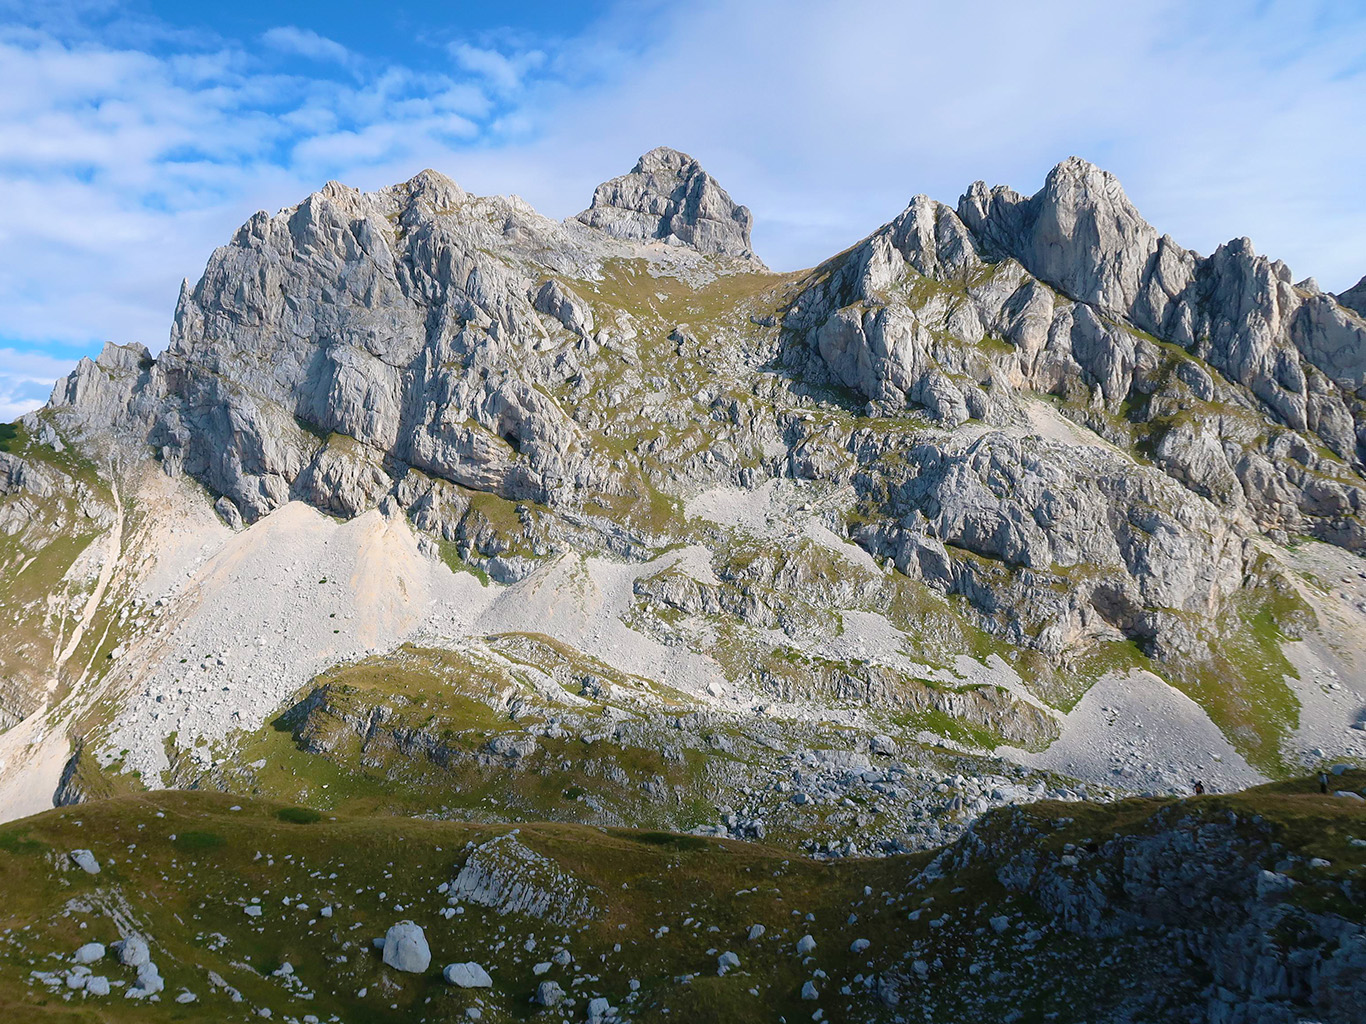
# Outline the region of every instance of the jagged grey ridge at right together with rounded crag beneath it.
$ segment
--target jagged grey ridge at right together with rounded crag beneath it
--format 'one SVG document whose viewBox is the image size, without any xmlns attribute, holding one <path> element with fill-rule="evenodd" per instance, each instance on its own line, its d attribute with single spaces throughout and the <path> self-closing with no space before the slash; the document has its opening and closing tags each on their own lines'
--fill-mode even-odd
<svg viewBox="0 0 1366 1024">
<path fill-rule="evenodd" d="M 1156 464 L 1104 466 L 1097 451 L 992 436 L 966 449 L 917 438 L 897 451 L 903 441 L 873 430 L 851 440 L 863 467 L 855 483 L 888 496 L 888 522 L 862 530 L 865 546 L 984 610 L 1014 609 L 1008 628 L 1044 650 L 1105 623 L 1150 650 L 1190 649 L 1180 623 L 1157 621 L 1154 597 L 1214 614 L 1247 575 L 1239 520 L 1366 550 L 1366 321 L 1292 285 L 1247 239 L 1206 258 L 1158 236 L 1086 161 L 1064 161 L 1029 198 L 981 182 L 956 210 L 915 197 L 821 268 L 785 324 L 802 339 L 788 362 L 824 370 L 870 411 L 1019 433 L 1034 422 L 1030 396 L 1049 395 L 1063 415 Z M 906 468 L 889 478 L 893 455 Z M 1085 482 L 1072 477 L 1078 463 Z M 1102 526 L 1121 522 L 1119 534 Z M 1064 523 L 1086 524 L 1091 539 Z M 1094 530 L 1108 534 L 1104 553 Z M 1101 573 L 1060 609 L 1016 586 L 1027 573 L 986 584 L 979 564 L 945 545 L 1030 572 L 1085 563 Z M 1188 575 L 1195 552 L 1199 580 Z"/>
</svg>

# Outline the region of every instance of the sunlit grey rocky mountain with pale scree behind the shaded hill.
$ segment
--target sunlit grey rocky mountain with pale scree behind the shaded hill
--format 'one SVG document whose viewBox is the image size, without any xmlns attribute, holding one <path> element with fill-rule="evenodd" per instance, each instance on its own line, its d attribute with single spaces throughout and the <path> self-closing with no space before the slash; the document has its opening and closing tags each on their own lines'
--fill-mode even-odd
<svg viewBox="0 0 1366 1024">
<path fill-rule="evenodd" d="M 1351 292 L 1078 158 L 810 270 L 750 228 L 669 149 L 563 223 L 433 171 L 251 217 L 165 351 L 0 434 L 0 816 L 178 788 L 947 863 L 1011 807 L 1366 762 Z M 1347 1005 L 1227 976 L 1274 1006 L 1209 1019 Z"/>
</svg>

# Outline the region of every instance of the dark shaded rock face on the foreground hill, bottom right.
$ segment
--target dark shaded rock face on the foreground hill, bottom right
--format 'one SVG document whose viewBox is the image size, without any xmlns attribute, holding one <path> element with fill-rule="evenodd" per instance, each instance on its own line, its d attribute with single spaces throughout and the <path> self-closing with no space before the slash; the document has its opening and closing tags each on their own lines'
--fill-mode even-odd
<svg viewBox="0 0 1366 1024">
<path fill-rule="evenodd" d="M 1307 859 L 1287 853 L 1269 829 L 1257 827 L 1259 816 L 1251 816 L 1250 827 L 1249 816 L 1173 814 L 1175 822 L 1152 833 L 1116 833 L 1060 852 L 1044 849 L 1044 831 L 1007 814 L 996 822 L 1007 827 L 973 830 L 908 887 L 989 862 L 1005 892 L 1027 893 L 1057 931 L 1091 948 L 1134 938 L 1128 956 L 1152 971 L 1145 997 L 1152 1005 L 1139 1016 L 1152 1020 L 1355 1020 L 1366 995 L 1366 930 L 1344 913 L 1354 900 L 1313 877 L 1296 882 L 1259 867 L 1273 857 L 1284 857 L 1285 866 Z M 1296 898 L 1298 889 L 1317 890 L 1318 901 Z M 1004 937 L 997 954 L 1027 961 L 1040 933 L 1022 926 L 1012 934 L 1012 923 L 990 919 Z M 1147 939 L 1139 937 L 1146 935 L 1161 937 L 1152 954 L 1142 950 Z M 1176 1009 L 1182 1002 L 1187 1005 Z"/>
</svg>

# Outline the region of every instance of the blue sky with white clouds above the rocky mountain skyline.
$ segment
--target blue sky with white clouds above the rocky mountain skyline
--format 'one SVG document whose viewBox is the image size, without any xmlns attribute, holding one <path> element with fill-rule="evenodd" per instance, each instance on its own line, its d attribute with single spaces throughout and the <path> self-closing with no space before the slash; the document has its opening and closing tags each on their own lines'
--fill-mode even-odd
<svg viewBox="0 0 1366 1024">
<path fill-rule="evenodd" d="M 657 145 L 810 266 L 1082 156 L 1209 253 L 1366 274 L 1366 4 L 1335 0 L 0 0 L 0 422 L 167 341 L 258 209 L 436 168 L 567 217 Z"/>
</svg>

